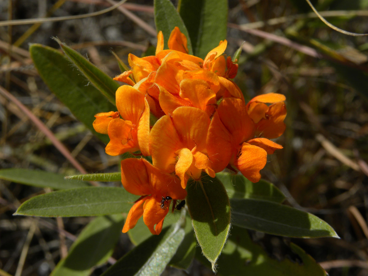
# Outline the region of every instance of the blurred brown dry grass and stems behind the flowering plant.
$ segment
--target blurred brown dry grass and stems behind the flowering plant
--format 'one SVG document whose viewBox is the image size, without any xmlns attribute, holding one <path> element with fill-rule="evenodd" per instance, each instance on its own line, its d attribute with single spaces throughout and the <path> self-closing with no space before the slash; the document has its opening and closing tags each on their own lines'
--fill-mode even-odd
<svg viewBox="0 0 368 276">
<path fill-rule="evenodd" d="M 332 24 L 368 33 L 368 0 L 312 3 Z M 119 158 L 106 155 L 105 146 L 49 91 L 32 65 L 28 45 L 42 43 L 59 49 L 55 36 L 114 77 L 120 70 L 112 51 L 127 62 L 128 53 L 141 56 L 156 44 L 153 1 L 129 1 L 113 11 L 78 20 L 12 26 L 5 21 L 88 14 L 112 4 L 112 0 L 0 1 L 2 89 L 42 120 L 88 173 L 117 171 Z M 331 276 L 367 275 L 367 37 L 333 31 L 302 0 L 229 0 L 228 22 L 226 54 L 232 56 L 243 48 L 235 82 L 245 98 L 269 92 L 287 98 L 287 128 L 277 139 L 284 149 L 269 156 L 262 177 L 275 183 L 290 205 L 328 222 L 341 239 L 304 240 L 256 232 L 252 237 L 276 259 L 300 261 L 287 247 L 292 241 Z M 4 92 L 0 103 L 0 168 L 77 173 Z M 88 217 L 12 216 L 21 202 L 44 192 L 0 180 L 0 275 L 49 275 L 90 221 Z M 122 234 L 113 257 L 120 258 L 131 246 Z M 212 272 L 195 262 L 189 272 L 168 268 L 164 275 Z"/>
</svg>

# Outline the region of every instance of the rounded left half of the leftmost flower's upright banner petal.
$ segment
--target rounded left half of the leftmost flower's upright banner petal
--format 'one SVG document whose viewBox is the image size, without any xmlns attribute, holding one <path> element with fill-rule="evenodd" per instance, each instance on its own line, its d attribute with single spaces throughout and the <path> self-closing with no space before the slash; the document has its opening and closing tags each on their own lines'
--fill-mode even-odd
<svg viewBox="0 0 368 276">
<path fill-rule="evenodd" d="M 145 110 L 145 94 L 130 85 L 120 86 L 116 91 L 116 107 L 124 120 L 138 125 Z"/>
</svg>

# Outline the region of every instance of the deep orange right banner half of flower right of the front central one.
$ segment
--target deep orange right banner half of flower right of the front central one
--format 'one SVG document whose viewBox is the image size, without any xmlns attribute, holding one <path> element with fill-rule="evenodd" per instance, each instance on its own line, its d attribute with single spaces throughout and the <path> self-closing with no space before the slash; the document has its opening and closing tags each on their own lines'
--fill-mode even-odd
<svg viewBox="0 0 368 276">
<path fill-rule="evenodd" d="M 217 113 L 231 133 L 234 148 L 253 137 L 254 123 L 248 115 L 243 100 L 225 98 L 217 108 Z"/>
</svg>

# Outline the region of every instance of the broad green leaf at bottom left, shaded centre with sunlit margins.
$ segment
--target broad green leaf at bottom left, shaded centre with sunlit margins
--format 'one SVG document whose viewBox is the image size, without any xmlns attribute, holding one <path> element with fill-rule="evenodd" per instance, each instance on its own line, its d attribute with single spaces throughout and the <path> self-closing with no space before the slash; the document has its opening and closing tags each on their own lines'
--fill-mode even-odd
<svg viewBox="0 0 368 276">
<path fill-rule="evenodd" d="M 92 220 L 72 244 L 50 276 L 88 276 L 93 266 L 102 265 L 112 255 L 124 226 L 120 214 Z"/>
</svg>

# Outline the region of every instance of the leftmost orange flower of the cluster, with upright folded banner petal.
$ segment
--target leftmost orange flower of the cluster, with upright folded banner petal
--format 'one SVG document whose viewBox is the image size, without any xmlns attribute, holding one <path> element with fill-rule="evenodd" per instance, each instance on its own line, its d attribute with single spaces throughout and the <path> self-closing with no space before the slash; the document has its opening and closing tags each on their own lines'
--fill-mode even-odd
<svg viewBox="0 0 368 276">
<path fill-rule="evenodd" d="M 97 132 L 109 135 L 106 153 L 115 156 L 141 151 L 143 155 L 150 155 L 149 105 L 145 95 L 130 85 L 120 86 L 116 91 L 116 107 L 118 112 L 96 114 L 93 122 Z"/>
</svg>

